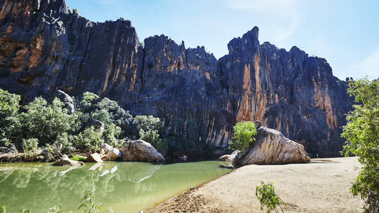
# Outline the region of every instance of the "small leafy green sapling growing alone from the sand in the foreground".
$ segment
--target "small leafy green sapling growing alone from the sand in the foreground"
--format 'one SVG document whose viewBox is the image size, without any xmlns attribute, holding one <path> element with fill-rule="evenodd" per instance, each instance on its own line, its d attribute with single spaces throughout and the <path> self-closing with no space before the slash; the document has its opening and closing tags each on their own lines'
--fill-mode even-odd
<svg viewBox="0 0 379 213">
<path fill-rule="evenodd" d="M 281 201 L 279 195 L 276 194 L 273 183 L 268 182 L 265 184 L 261 181 L 261 185 L 257 186 L 255 189 L 255 195 L 261 204 L 262 211 L 264 211 L 264 207 L 266 207 L 267 213 L 270 213 L 271 211 L 278 212 L 277 207 L 280 207 L 281 212 L 283 212 L 282 206 L 285 206 L 286 203 Z"/>
</svg>

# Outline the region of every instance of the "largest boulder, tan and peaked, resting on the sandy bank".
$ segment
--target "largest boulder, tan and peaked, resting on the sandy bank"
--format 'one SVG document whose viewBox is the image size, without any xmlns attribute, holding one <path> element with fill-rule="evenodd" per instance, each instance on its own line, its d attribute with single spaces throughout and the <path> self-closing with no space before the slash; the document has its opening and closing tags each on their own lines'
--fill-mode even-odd
<svg viewBox="0 0 379 213">
<path fill-rule="evenodd" d="M 310 158 L 304 146 L 281 134 L 279 131 L 260 126 L 255 136 L 255 145 L 242 161 L 242 165 L 303 164 Z"/>
</svg>

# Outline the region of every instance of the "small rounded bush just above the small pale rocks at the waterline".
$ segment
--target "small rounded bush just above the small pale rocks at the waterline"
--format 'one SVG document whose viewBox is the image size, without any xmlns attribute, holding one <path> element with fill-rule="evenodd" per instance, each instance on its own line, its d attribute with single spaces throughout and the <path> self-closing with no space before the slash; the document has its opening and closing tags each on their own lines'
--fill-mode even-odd
<svg viewBox="0 0 379 213">
<path fill-rule="evenodd" d="M 93 127 L 84 129 L 79 135 L 75 138 L 76 145 L 83 145 L 89 147 L 92 151 L 97 151 L 104 143 L 104 140 L 101 138 L 100 134 L 95 132 Z"/>
</svg>

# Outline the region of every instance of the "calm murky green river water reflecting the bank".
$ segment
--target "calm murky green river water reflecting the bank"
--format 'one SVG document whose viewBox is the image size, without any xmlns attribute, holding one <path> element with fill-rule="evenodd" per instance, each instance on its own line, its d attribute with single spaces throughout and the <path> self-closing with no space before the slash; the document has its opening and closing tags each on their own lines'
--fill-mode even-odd
<svg viewBox="0 0 379 213">
<path fill-rule="evenodd" d="M 0 204 L 9 212 L 28 208 L 47 212 L 61 205 L 77 211 L 85 192 L 95 195 L 102 210 L 139 212 L 191 186 L 231 170 L 217 161 L 177 164 L 140 162 L 86 163 L 82 167 L 53 167 L 51 163 L 0 164 Z"/>
</svg>

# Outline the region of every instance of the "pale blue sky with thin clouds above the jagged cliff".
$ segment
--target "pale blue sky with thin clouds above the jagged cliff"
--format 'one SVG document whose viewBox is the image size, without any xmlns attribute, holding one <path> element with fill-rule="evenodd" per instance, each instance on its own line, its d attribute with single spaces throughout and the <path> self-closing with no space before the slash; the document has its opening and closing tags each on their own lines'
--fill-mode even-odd
<svg viewBox="0 0 379 213">
<path fill-rule="evenodd" d="M 259 41 L 325 58 L 340 79 L 379 77 L 379 1 L 66 0 L 95 22 L 130 20 L 141 42 L 165 34 L 204 45 L 218 59 L 227 43 L 259 27 Z"/>
</svg>

